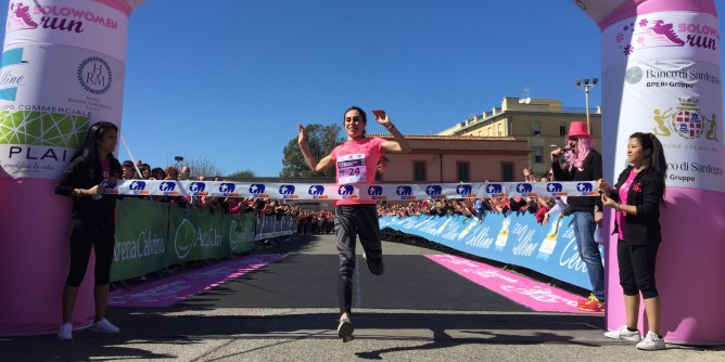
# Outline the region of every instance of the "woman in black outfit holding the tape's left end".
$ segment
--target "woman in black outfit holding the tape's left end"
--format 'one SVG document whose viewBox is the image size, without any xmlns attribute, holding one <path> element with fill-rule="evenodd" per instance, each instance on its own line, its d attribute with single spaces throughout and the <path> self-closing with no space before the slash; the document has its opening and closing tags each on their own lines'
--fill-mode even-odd
<svg viewBox="0 0 725 362">
<path fill-rule="evenodd" d="M 73 309 L 78 287 L 88 268 L 91 247 L 96 253 L 96 319 L 91 331 L 118 333 L 105 319 L 109 279 L 113 261 L 116 197 L 103 195 L 104 184 L 115 184 L 122 168 L 113 152 L 118 143 L 118 128 L 106 121 L 91 126 L 86 141 L 55 184 L 55 193 L 73 197 L 71 232 L 71 270 L 63 288 L 63 323 L 58 339 L 73 339 Z"/>
</svg>

